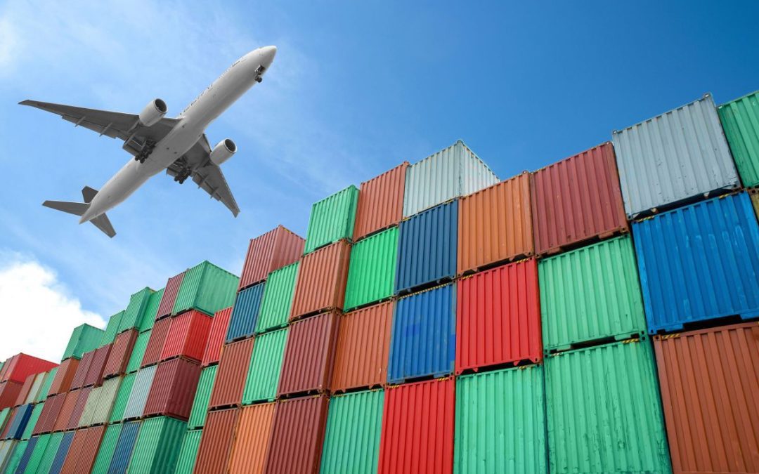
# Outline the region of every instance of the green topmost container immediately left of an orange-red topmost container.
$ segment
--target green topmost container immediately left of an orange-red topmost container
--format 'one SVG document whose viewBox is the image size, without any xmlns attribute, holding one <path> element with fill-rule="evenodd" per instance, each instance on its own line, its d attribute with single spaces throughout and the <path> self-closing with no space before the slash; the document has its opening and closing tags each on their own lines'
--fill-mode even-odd
<svg viewBox="0 0 759 474">
<path fill-rule="evenodd" d="M 314 202 L 308 219 L 304 254 L 340 239 L 351 238 L 357 202 L 358 188 L 352 184 L 332 196 Z"/>
</svg>

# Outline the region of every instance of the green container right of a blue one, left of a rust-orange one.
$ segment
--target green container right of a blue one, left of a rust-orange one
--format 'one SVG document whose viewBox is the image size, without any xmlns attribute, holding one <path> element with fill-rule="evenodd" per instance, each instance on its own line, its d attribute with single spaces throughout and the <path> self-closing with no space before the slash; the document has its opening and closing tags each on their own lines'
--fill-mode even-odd
<svg viewBox="0 0 759 474">
<path fill-rule="evenodd" d="M 272 328 L 283 328 L 290 318 L 292 295 L 295 290 L 295 278 L 298 276 L 298 265 L 295 262 L 286 267 L 269 273 L 266 286 L 263 287 L 263 300 L 258 310 L 256 333 L 269 331 Z"/>
</svg>

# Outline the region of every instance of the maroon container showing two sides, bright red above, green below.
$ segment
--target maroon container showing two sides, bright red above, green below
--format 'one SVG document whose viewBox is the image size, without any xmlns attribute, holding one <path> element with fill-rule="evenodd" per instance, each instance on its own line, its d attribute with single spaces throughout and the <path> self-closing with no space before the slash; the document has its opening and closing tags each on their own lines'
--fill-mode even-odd
<svg viewBox="0 0 759 474">
<path fill-rule="evenodd" d="M 200 364 L 184 359 L 159 363 L 147 395 L 145 416 L 165 415 L 187 421 L 200 380 Z"/>
</svg>

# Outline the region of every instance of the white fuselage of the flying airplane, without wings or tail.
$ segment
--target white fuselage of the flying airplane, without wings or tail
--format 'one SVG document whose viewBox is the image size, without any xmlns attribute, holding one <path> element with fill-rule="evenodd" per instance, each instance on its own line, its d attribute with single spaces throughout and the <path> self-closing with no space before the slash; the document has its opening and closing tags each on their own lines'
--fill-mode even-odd
<svg viewBox="0 0 759 474">
<path fill-rule="evenodd" d="M 256 83 L 257 71 L 268 71 L 276 47 L 255 49 L 238 59 L 178 115 L 178 123 L 144 162 L 130 159 L 95 195 L 80 224 L 102 215 L 131 196 L 146 180 L 164 171 L 203 136 L 206 127 Z"/>
</svg>

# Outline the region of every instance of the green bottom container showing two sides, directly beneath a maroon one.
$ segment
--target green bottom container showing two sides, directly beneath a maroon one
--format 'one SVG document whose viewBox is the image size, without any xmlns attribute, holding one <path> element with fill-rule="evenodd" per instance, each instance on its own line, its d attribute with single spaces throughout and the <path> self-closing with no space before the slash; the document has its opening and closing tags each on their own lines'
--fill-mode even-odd
<svg viewBox="0 0 759 474">
<path fill-rule="evenodd" d="M 174 472 L 187 423 L 168 416 L 143 421 L 129 462 L 129 472 Z"/>
</svg>

